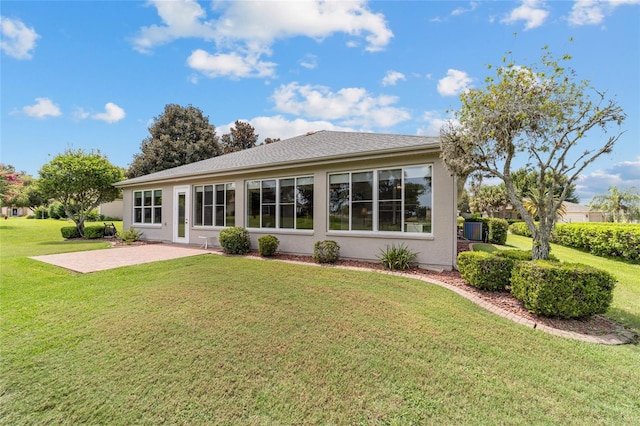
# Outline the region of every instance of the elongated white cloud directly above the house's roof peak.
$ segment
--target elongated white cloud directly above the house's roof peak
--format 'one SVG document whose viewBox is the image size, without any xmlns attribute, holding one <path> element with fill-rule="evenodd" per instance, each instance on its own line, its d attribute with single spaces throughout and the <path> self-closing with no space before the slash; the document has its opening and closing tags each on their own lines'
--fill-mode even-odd
<svg viewBox="0 0 640 426">
<path fill-rule="evenodd" d="M 372 96 L 363 88 L 344 88 L 332 92 L 325 86 L 281 85 L 273 93 L 275 109 L 320 120 L 340 120 L 346 126 L 390 127 L 411 118 L 404 109 L 394 107 L 395 96 Z"/>
</svg>

